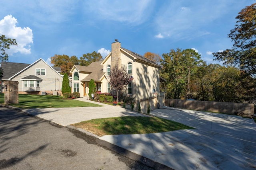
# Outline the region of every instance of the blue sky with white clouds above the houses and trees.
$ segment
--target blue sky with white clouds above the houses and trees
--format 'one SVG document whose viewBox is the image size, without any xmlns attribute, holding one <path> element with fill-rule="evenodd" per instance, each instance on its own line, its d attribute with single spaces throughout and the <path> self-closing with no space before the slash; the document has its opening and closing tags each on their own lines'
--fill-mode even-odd
<svg viewBox="0 0 256 170">
<path fill-rule="evenodd" d="M 111 51 L 115 39 L 140 55 L 193 48 L 210 63 L 232 47 L 236 16 L 255 0 L 1 0 L 0 34 L 16 39 L 9 61 Z"/>
</svg>

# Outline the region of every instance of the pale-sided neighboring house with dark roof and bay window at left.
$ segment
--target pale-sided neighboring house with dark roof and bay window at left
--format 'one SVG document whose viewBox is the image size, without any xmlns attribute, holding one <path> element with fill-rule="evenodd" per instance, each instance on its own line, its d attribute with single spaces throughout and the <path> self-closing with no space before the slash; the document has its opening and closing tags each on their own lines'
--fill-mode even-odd
<svg viewBox="0 0 256 170">
<path fill-rule="evenodd" d="M 20 94 L 61 94 L 63 76 L 60 67 L 52 67 L 43 59 L 32 64 L 2 62 L 2 90 L 4 81 L 18 81 Z"/>
</svg>

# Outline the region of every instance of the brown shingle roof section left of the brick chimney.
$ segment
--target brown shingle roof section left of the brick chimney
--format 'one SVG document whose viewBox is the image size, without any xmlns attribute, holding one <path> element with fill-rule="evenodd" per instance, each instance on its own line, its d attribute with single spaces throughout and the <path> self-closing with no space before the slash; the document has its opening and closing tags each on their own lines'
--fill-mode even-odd
<svg viewBox="0 0 256 170">
<path fill-rule="evenodd" d="M 105 74 L 103 72 L 103 65 L 100 65 L 101 62 L 102 61 L 96 61 L 96 62 L 93 62 L 90 65 L 88 65 L 86 67 L 86 70 L 87 69 L 90 70 L 91 73 L 81 81 L 89 82 L 91 79 L 93 79 L 94 81 L 100 81 Z"/>
</svg>

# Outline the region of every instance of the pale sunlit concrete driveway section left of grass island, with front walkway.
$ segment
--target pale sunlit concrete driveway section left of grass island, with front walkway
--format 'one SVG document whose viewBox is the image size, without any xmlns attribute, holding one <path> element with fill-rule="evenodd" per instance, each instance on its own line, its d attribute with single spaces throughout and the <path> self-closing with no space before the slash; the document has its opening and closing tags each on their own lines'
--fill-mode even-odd
<svg viewBox="0 0 256 170">
<path fill-rule="evenodd" d="M 67 126 L 91 119 L 121 117 L 121 116 L 146 116 L 144 114 L 124 109 L 120 106 L 110 106 L 98 102 L 78 98 L 76 100 L 99 104 L 102 107 L 59 107 L 43 109 L 24 109 L 24 112 L 36 115 L 45 120 L 52 121 L 62 126 Z"/>
</svg>

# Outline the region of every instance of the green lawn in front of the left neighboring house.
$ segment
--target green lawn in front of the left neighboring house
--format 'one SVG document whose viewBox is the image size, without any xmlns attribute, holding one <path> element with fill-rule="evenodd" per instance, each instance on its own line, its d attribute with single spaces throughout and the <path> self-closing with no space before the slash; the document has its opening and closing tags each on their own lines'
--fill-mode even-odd
<svg viewBox="0 0 256 170">
<path fill-rule="evenodd" d="M 4 104 L 4 94 L 0 94 L 0 104 Z M 88 102 L 78 100 L 66 100 L 61 96 L 35 95 L 35 94 L 19 94 L 19 104 L 10 104 L 23 109 L 31 108 L 52 108 L 52 107 L 86 107 L 100 106 Z"/>
</svg>

